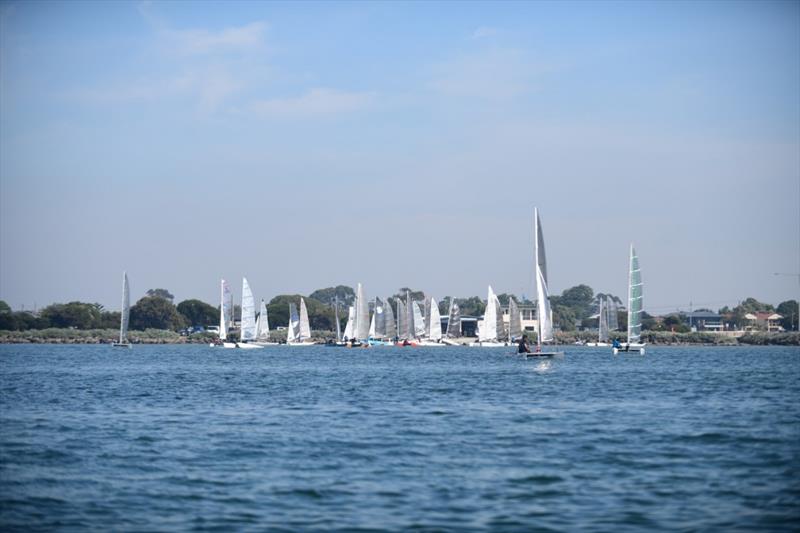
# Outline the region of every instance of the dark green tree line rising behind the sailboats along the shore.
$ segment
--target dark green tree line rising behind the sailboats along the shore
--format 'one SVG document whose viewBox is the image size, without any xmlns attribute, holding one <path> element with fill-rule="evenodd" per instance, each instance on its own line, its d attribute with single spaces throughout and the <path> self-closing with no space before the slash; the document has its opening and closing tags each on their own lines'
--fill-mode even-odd
<svg viewBox="0 0 800 533">
<path fill-rule="evenodd" d="M 397 300 L 405 301 L 406 294 L 410 293 L 412 299 L 423 301 L 425 293 L 409 287 L 401 287 L 386 299 L 386 303 L 397 308 Z M 299 302 L 299 294 L 281 294 L 272 298 L 267 304 L 270 328 L 286 326 L 289 321 L 289 304 Z M 309 322 L 312 329 L 332 331 L 336 328 L 334 302 L 339 303 L 339 318 L 344 325 L 347 319 L 347 308 L 355 300 L 355 291 L 352 287 L 338 285 L 327 287 L 312 292 L 305 298 L 308 308 Z M 510 294 L 499 294 L 498 299 L 502 305 L 508 305 Z M 622 308 L 622 300 L 612 294 L 595 293 L 588 285 L 576 285 L 566 289 L 560 295 L 550 297 L 553 311 L 553 322 L 562 331 L 575 331 L 578 328 L 597 327 L 597 312 L 601 299 L 610 299 L 620 306 L 618 319 L 621 325 L 627 323 L 627 312 Z M 486 302 L 478 296 L 469 298 L 451 298 L 445 296 L 439 300 L 439 312 L 447 316 L 451 299 L 458 303 L 462 316 L 480 317 L 486 309 Z M 522 305 L 533 305 L 526 299 L 516 298 Z M 130 329 L 144 330 L 165 329 L 180 331 L 188 327 L 207 327 L 219 323 L 219 307 L 215 307 L 198 299 L 184 300 L 177 305 L 173 303 L 174 296 L 166 289 L 150 289 L 145 296 L 139 299 L 130 311 Z M 703 309 L 698 309 L 701 311 Z M 706 309 L 708 310 L 708 309 Z M 800 320 L 798 302 L 787 300 L 777 307 L 759 302 L 755 298 L 746 298 L 739 305 L 730 309 L 727 306 L 718 312 L 725 323 L 733 324 L 737 328 L 747 325 L 745 315 L 759 311 L 777 312 L 783 316 L 781 325 L 787 331 L 797 329 Z M 234 306 L 234 318 L 239 320 L 241 309 Z M 118 328 L 120 322 L 119 311 L 108 311 L 98 303 L 68 302 L 65 304 L 54 303 L 38 313 L 30 311 L 12 311 L 8 304 L 0 300 L 0 330 L 24 331 L 46 328 L 75 328 L 75 329 L 105 329 Z M 689 331 L 688 325 L 678 313 L 664 317 L 653 317 L 643 313 L 642 329 L 651 331 Z"/>
</svg>

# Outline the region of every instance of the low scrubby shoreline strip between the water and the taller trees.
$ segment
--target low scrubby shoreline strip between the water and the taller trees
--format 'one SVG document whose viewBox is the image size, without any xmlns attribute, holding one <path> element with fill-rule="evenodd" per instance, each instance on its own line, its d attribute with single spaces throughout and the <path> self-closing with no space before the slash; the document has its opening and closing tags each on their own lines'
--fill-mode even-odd
<svg viewBox="0 0 800 533">
<path fill-rule="evenodd" d="M 535 334 L 531 335 L 535 338 Z M 119 338 L 119 331 L 112 329 L 77 330 L 49 328 L 44 330 L 0 331 L 0 344 L 111 344 Z M 132 344 L 208 344 L 216 338 L 213 333 L 195 333 L 189 336 L 179 335 L 174 331 L 148 329 L 131 331 L 128 340 Z M 312 339 L 324 342 L 335 338 L 332 331 L 315 331 Z M 619 337 L 621 342 L 625 339 Z M 273 340 L 285 339 L 285 332 L 275 332 Z M 475 339 L 463 337 L 464 343 Z M 574 345 L 576 342 L 596 342 L 597 334 L 589 331 L 560 332 L 557 343 L 561 346 Z M 782 332 L 746 333 L 734 338 L 711 332 L 673 333 L 651 331 L 642 334 L 642 341 L 651 346 L 800 346 L 800 333 Z M 457 340 L 457 342 L 459 342 Z"/>
</svg>

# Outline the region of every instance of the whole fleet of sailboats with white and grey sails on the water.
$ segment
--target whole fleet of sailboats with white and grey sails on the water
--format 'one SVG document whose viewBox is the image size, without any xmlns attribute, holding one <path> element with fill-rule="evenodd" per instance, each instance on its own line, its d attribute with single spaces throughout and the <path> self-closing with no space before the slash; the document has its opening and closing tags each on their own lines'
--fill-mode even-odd
<svg viewBox="0 0 800 533">
<path fill-rule="evenodd" d="M 564 352 L 558 349 L 545 349 L 548 344 L 554 342 L 555 335 L 548 293 L 544 237 L 537 208 L 534 209 L 533 228 L 533 280 L 536 286 L 536 350 L 529 352 L 527 355 L 563 355 Z M 639 257 L 631 244 L 628 268 L 627 343 L 619 345 L 615 341 L 614 354 L 620 351 L 627 352 L 631 349 L 644 353 L 645 344 L 641 342 L 642 287 Z M 397 296 L 394 297 L 394 309 L 389 300 L 381 300 L 376 297 L 372 303 L 372 313 L 370 313 L 370 301 L 367 300 L 361 283 L 357 284 L 354 296 L 353 305 L 350 305 L 348 309 L 347 323 L 343 333 L 339 321 L 338 295 L 335 297 L 336 342 L 329 341 L 328 344 L 340 346 L 392 344 L 402 346 L 445 346 L 457 345 L 459 343 L 456 339 L 462 338 L 461 309 L 454 298 L 450 298 L 446 327 L 443 328 L 439 304 L 433 297 L 423 295 L 424 297 L 420 302 L 412 298 L 410 291 L 406 291 L 405 300 Z M 607 295 L 600 295 L 598 298 L 598 339 L 597 342 L 588 343 L 588 346 L 609 346 L 610 334 L 618 327 L 616 302 L 619 300 L 616 299 L 616 302 L 614 300 L 615 298 Z M 304 298 L 300 297 L 297 304 L 290 302 L 288 307 L 289 321 L 286 328 L 285 344 L 289 346 L 315 344 L 311 336 L 308 309 Z M 119 341 L 114 342 L 113 346 L 131 346 L 127 338 L 129 312 L 130 289 L 127 273 L 123 272 L 120 334 Z M 477 340 L 469 345 L 502 347 L 520 341 L 524 333 L 522 313 L 516 299 L 513 297 L 508 297 L 507 316 L 506 323 L 500 299 L 491 285 L 489 285 L 485 312 L 482 320 L 478 322 Z M 244 277 L 242 278 L 241 321 L 238 327 L 238 339 L 236 339 L 236 336 L 231 338 L 232 333 L 236 335 L 233 298 L 227 281 L 222 279 L 220 281 L 219 340 L 211 345 L 248 349 L 281 344 L 270 334 L 269 317 L 264 299 L 261 300 L 258 312 L 256 312 L 252 289 L 247 278 Z M 520 348 L 520 351 L 523 351 L 522 348 Z"/>
</svg>

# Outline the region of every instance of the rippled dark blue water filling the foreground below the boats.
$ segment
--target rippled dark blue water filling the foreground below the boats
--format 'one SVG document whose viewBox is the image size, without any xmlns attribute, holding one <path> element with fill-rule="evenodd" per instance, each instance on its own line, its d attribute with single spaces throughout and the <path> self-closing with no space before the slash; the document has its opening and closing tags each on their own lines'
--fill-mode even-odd
<svg viewBox="0 0 800 533">
<path fill-rule="evenodd" d="M 800 350 L 0 346 L 0 529 L 800 529 Z"/>
</svg>

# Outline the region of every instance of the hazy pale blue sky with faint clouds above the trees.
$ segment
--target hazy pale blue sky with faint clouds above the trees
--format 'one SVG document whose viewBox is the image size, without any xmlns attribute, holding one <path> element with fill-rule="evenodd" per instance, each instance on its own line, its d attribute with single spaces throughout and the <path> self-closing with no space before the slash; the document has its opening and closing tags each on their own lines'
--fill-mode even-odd
<svg viewBox="0 0 800 533">
<path fill-rule="evenodd" d="M 0 299 L 800 298 L 800 2 L 3 2 Z M 775 273 L 788 275 L 775 275 Z"/>
</svg>

